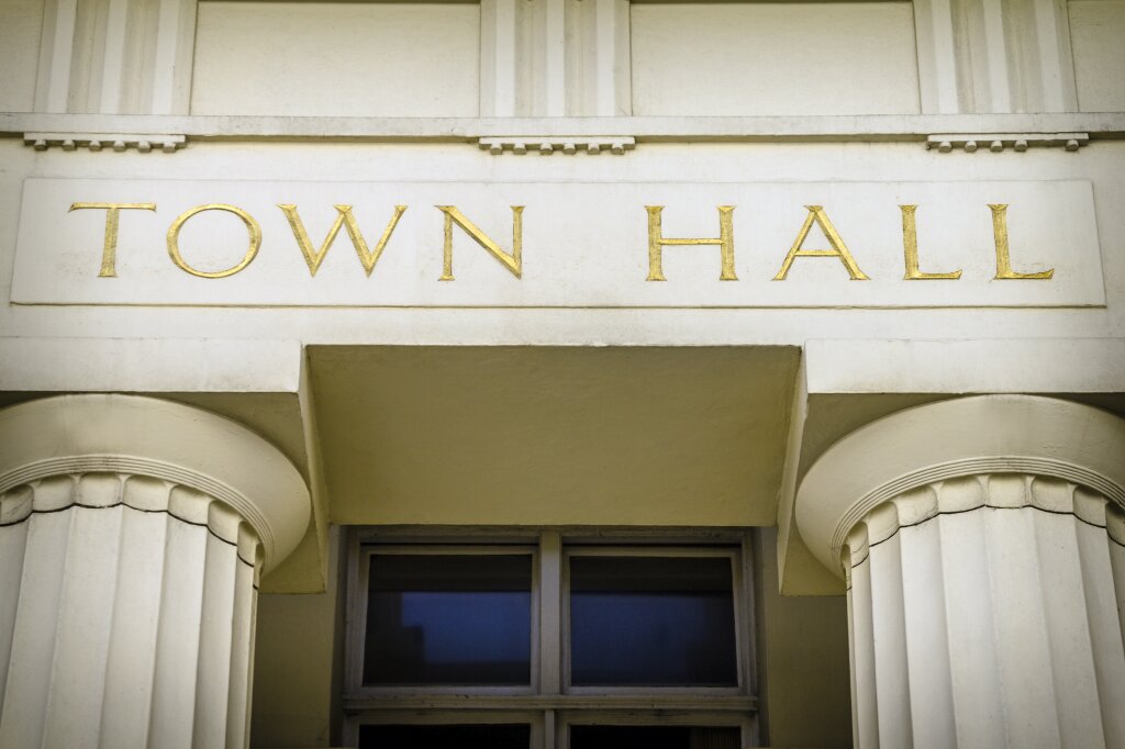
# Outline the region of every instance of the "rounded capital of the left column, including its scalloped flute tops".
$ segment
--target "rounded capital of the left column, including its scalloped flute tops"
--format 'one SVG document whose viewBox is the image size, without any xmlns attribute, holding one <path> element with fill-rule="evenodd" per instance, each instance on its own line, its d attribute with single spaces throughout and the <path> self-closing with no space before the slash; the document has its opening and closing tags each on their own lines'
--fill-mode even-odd
<svg viewBox="0 0 1125 749">
<path fill-rule="evenodd" d="M 125 395 L 61 396 L 0 410 L 0 525 L 69 506 L 126 505 L 207 525 L 237 543 L 244 522 L 261 541 L 261 571 L 296 548 L 310 507 L 297 469 L 250 430 L 199 408 Z"/>
</svg>

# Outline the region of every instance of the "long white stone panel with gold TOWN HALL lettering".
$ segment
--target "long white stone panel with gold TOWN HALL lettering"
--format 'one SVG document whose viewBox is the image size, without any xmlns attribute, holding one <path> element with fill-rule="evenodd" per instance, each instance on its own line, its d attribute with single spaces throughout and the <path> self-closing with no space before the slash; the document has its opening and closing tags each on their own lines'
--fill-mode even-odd
<svg viewBox="0 0 1125 749">
<path fill-rule="evenodd" d="M 29 179 L 12 301 L 1105 304 L 1091 186 Z"/>
</svg>

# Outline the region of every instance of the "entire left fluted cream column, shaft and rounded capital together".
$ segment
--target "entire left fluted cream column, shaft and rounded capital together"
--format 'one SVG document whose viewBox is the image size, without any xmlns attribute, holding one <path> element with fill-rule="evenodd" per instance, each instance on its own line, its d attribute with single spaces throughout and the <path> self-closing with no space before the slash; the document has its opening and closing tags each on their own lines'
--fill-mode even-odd
<svg viewBox="0 0 1125 749">
<path fill-rule="evenodd" d="M 213 414 L 0 412 L 0 746 L 245 746 L 258 579 L 307 520 L 288 460 Z"/>
</svg>

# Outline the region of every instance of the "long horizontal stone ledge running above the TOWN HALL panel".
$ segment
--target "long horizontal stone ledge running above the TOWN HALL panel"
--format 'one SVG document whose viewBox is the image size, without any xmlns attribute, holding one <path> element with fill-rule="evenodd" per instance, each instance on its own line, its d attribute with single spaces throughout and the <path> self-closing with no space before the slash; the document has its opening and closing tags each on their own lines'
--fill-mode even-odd
<svg viewBox="0 0 1125 749">
<path fill-rule="evenodd" d="M 188 141 L 476 143 L 512 133 L 528 137 L 616 133 L 638 142 L 914 141 L 935 133 L 1088 133 L 1125 137 L 1125 112 L 1012 115 L 816 115 L 759 117 L 287 117 L 161 116 L 46 112 L 0 114 L 0 135 L 82 133 L 87 136 L 170 133 Z"/>
</svg>

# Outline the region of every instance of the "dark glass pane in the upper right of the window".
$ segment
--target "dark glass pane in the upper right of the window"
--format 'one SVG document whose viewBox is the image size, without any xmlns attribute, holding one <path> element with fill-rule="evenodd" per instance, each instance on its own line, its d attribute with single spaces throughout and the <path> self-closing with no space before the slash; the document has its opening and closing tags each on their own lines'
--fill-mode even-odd
<svg viewBox="0 0 1125 749">
<path fill-rule="evenodd" d="M 737 686 L 726 557 L 572 557 L 570 683 Z"/>
</svg>

